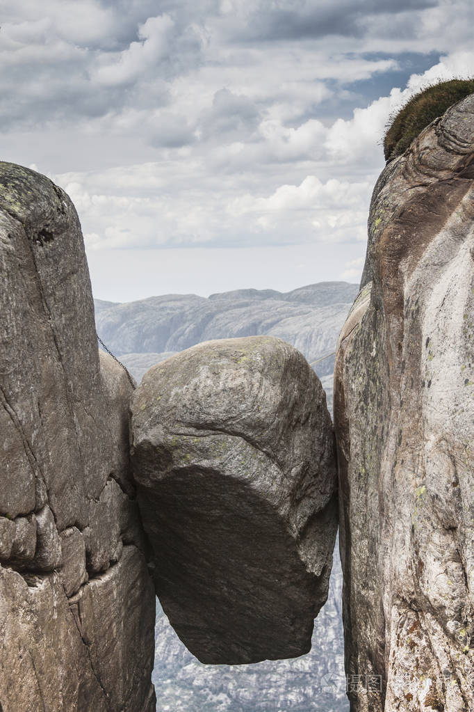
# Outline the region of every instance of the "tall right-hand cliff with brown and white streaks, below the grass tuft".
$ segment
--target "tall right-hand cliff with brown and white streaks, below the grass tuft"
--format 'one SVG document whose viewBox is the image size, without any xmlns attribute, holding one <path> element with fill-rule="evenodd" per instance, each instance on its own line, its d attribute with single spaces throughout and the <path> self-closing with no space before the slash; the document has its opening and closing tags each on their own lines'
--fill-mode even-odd
<svg viewBox="0 0 474 712">
<path fill-rule="evenodd" d="M 353 712 L 474 709 L 473 157 L 470 96 L 387 164 L 338 344 Z"/>
</svg>

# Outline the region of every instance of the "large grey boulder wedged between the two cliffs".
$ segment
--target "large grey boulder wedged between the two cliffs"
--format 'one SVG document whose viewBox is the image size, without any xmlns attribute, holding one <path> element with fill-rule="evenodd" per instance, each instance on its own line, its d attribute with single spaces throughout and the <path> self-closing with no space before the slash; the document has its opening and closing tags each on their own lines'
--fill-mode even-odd
<svg viewBox="0 0 474 712">
<path fill-rule="evenodd" d="M 318 377 L 274 337 L 205 342 L 152 367 L 132 465 L 156 593 L 205 663 L 301 655 L 328 595 L 333 428 Z"/>
</svg>

